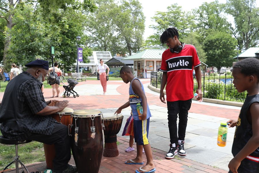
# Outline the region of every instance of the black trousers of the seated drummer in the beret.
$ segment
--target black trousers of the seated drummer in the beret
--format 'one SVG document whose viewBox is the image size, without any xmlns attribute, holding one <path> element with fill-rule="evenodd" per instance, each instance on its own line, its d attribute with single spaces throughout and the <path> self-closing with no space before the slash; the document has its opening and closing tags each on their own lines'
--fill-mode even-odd
<svg viewBox="0 0 259 173">
<path fill-rule="evenodd" d="M 53 170 L 62 171 L 67 168 L 71 158 L 71 138 L 68 136 L 68 127 L 64 124 L 55 123 L 52 135 L 32 133 L 27 139 L 55 145 L 56 156 L 53 160 Z"/>
</svg>

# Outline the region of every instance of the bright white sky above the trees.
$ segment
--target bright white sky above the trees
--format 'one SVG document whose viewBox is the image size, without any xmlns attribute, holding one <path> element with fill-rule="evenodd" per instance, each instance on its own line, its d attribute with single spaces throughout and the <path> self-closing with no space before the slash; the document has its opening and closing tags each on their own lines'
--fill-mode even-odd
<svg viewBox="0 0 259 173">
<path fill-rule="evenodd" d="M 155 15 L 156 11 L 165 12 L 167 11 L 167 7 L 178 3 L 179 6 L 182 6 L 182 10 L 185 12 L 191 11 L 194 8 L 198 8 L 203 2 L 212 2 L 214 0 L 138 0 L 143 7 L 144 15 L 146 16 L 145 21 L 145 32 L 144 32 L 144 39 L 149 35 L 152 35 L 154 33 L 153 29 L 149 28 L 149 25 L 155 25 L 155 22 L 151 21 L 151 17 Z M 226 3 L 226 0 L 218 0 L 219 3 Z M 259 7 L 259 0 L 256 0 L 256 6 Z M 228 17 L 231 18 L 232 16 Z M 233 20 L 233 18 L 232 18 Z M 233 23 L 232 21 L 230 21 Z M 162 34 L 162 33 L 161 33 Z"/>
</svg>

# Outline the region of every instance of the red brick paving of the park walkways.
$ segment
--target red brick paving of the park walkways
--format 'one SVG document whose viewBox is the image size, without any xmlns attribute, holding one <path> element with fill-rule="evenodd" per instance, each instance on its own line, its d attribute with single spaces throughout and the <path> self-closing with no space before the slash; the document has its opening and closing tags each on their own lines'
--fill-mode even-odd
<svg viewBox="0 0 259 173">
<path fill-rule="evenodd" d="M 142 81 L 143 84 L 148 83 L 149 81 Z M 100 84 L 100 81 L 96 80 L 88 80 L 87 82 L 79 82 L 79 85 L 83 84 Z M 108 81 L 109 84 L 118 84 L 120 86 L 117 87 L 117 92 L 121 95 L 80 95 L 79 97 L 58 97 L 55 99 L 64 100 L 68 99 L 69 108 L 73 108 L 74 110 L 78 109 L 102 109 L 102 108 L 117 108 L 124 104 L 128 99 L 128 88 L 129 84 L 125 84 L 120 81 Z M 86 88 L 87 90 L 87 85 Z M 60 87 L 60 92 L 63 89 Z M 44 90 L 44 97 L 46 100 L 49 100 L 52 96 L 52 89 Z M 0 93 L 0 99 L 2 99 L 3 93 Z M 146 93 L 146 97 L 149 105 L 158 105 L 166 107 L 166 104 L 163 104 L 159 97 L 150 93 Z M 224 118 L 237 118 L 240 110 L 236 109 L 228 109 L 221 108 L 216 106 L 207 106 L 202 104 L 193 103 L 189 112 L 198 113 L 198 114 L 206 114 L 217 117 Z M 136 156 L 136 151 L 125 152 L 125 148 L 128 147 L 129 140 L 125 138 L 118 138 L 120 145 L 118 145 L 120 155 L 113 158 L 102 157 L 102 162 L 100 166 L 99 172 L 135 172 L 138 168 L 138 165 L 125 165 L 124 162 L 128 159 L 132 159 Z M 136 146 L 135 146 L 136 147 Z M 195 162 L 184 157 L 177 157 L 171 160 L 167 160 L 164 158 L 166 152 L 160 151 L 158 149 L 152 148 L 153 150 L 153 159 L 155 161 L 156 173 L 167 173 L 167 172 L 210 172 L 217 173 L 222 172 L 225 173 L 227 171 L 221 170 L 218 168 L 214 168 L 212 166 L 208 166 L 199 162 Z M 146 161 L 145 155 L 143 155 L 144 161 Z M 73 158 L 71 159 L 71 164 L 74 164 Z M 31 171 L 43 171 L 45 170 L 46 164 L 44 162 L 33 163 L 28 166 L 28 170 Z M 14 173 L 14 171 L 11 171 Z"/>
</svg>

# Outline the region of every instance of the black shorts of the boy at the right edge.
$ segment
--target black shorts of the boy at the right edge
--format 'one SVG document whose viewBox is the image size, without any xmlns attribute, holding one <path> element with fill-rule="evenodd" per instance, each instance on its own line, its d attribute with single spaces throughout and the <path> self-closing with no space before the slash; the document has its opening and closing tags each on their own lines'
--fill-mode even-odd
<svg viewBox="0 0 259 173">
<path fill-rule="evenodd" d="M 238 167 L 237 172 L 238 173 L 258 173 L 259 163 L 245 158 L 241 161 L 241 164 Z M 229 171 L 228 173 L 232 173 L 232 172 Z"/>
</svg>

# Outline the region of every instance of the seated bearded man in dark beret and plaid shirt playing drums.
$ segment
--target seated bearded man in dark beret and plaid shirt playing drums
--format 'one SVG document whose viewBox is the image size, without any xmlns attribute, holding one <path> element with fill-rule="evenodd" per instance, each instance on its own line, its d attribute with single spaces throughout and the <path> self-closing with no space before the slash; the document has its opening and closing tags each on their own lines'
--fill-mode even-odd
<svg viewBox="0 0 259 173">
<path fill-rule="evenodd" d="M 1 133 L 12 140 L 54 144 L 56 157 L 52 172 L 77 172 L 75 166 L 68 164 L 71 158 L 68 128 L 49 116 L 68 106 L 68 100 L 44 100 L 41 86 L 49 70 L 47 61 L 35 60 L 25 67 L 28 67 L 26 72 L 6 86 L 0 107 Z"/>
</svg>

